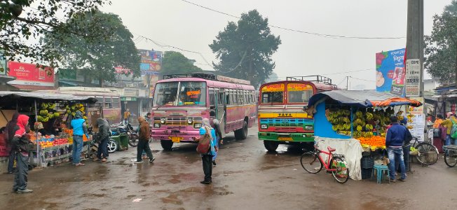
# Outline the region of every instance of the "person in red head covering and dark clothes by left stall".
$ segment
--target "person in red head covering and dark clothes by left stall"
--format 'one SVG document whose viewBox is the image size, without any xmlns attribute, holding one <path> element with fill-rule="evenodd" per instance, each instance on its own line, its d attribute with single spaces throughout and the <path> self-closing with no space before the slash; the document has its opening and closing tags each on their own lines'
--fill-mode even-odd
<svg viewBox="0 0 457 210">
<path fill-rule="evenodd" d="M 15 134 L 11 140 L 11 145 L 15 151 L 16 169 L 14 172 L 13 192 L 32 193 L 33 190 L 27 188 L 27 176 L 29 174 L 29 116 L 19 115 L 16 124 Z"/>
</svg>

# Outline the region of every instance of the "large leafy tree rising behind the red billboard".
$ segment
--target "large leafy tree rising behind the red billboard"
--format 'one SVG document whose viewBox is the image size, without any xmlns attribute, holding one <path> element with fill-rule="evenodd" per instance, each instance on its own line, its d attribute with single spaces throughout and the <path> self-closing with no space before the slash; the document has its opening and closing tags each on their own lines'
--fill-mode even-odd
<svg viewBox="0 0 457 210">
<path fill-rule="evenodd" d="M 86 14 L 76 22 L 75 27 L 84 31 L 92 22 L 97 22 L 98 30 L 112 30 L 113 34 L 108 38 L 88 41 L 76 34 L 48 33 L 43 38 L 44 46 L 53 50 L 56 57 L 62 57 L 62 67 L 79 69 L 86 77 L 99 80 L 100 85 L 105 81 L 116 81 L 116 66 L 130 69 L 134 76 L 139 76 L 138 50 L 132 41 L 132 34 L 118 15 L 100 11 Z"/>
</svg>

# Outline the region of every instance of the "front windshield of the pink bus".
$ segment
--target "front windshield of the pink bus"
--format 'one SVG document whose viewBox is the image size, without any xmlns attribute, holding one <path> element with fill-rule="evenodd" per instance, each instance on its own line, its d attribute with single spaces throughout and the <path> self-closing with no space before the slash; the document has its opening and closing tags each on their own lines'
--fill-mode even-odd
<svg viewBox="0 0 457 210">
<path fill-rule="evenodd" d="M 204 82 L 170 82 L 156 85 L 154 106 L 205 105 L 206 85 Z"/>
</svg>

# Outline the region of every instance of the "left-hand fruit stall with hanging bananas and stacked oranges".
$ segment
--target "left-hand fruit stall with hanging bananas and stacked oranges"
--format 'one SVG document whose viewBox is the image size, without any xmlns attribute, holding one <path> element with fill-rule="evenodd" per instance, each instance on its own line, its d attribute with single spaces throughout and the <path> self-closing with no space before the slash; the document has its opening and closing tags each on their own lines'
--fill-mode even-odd
<svg viewBox="0 0 457 210">
<path fill-rule="evenodd" d="M 93 104 L 96 101 L 95 97 L 71 94 L 0 91 L 3 121 L 11 120 L 15 112 L 30 117 L 29 136 L 33 144 L 30 146 L 29 162 L 35 166 L 49 166 L 69 161 L 73 144 L 72 130 L 68 128 L 69 122 L 76 111 L 81 111 L 83 118 L 86 118 L 84 104 Z M 0 127 L 2 126 L 4 125 L 0 124 Z M 84 137 L 83 141 L 83 153 L 87 153 L 89 146 L 86 142 L 89 139 Z"/>
</svg>

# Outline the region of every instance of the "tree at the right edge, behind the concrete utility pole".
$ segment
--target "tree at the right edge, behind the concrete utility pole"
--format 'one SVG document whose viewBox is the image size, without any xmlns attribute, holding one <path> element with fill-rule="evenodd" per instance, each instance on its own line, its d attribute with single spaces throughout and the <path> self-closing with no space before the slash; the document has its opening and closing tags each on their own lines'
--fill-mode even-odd
<svg viewBox="0 0 457 210">
<path fill-rule="evenodd" d="M 457 0 L 433 16 L 432 34 L 425 36 L 425 45 L 427 72 L 442 83 L 457 85 Z"/>
</svg>

